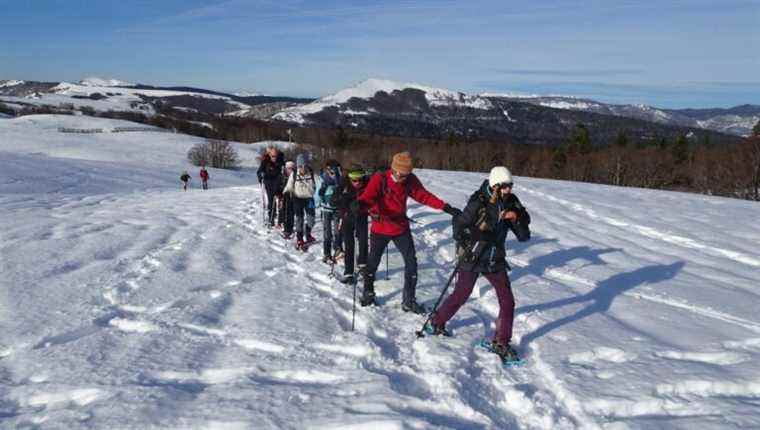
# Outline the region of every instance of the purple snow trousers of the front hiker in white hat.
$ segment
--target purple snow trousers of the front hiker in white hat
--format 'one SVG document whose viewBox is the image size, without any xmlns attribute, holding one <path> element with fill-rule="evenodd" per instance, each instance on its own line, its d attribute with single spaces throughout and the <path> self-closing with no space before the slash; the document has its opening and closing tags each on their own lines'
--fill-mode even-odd
<svg viewBox="0 0 760 430">
<path fill-rule="evenodd" d="M 472 288 L 475 286 L 478 275 L 477 272 L 459 271 L 459 279 L 454 287 L 454 292 L 446 298 L 436 311 L 435 316 L 433 316 L 433 324 L 445 325 L 457 313 L 472 294 Z M 496 297 L 499 299 L 499 318 L 496 319 L 496 336 L 494 339 L 506 345 L 512 340 L 512 320 L 515 316 L 515 297 L 512 295 L 509 277 L 504 270 L 484 273 L 483 275 L 493 285 L 494 290 L 496 290 Z"/>
</svg>

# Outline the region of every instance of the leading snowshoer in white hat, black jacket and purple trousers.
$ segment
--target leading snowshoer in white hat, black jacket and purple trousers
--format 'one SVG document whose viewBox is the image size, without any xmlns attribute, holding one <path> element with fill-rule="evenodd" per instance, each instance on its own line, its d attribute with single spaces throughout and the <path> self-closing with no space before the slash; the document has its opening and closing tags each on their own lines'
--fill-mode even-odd
<svg viewBox="0 0 760 430">
<path fill-rule="evenodd" d="M 454 292 L 425 327 L 429 334 L 450 336 L 446 323 L 467 301 L 475 281 L 483 275 L 493 285 L 499 300 L 496 333 L 489 350 L 505 362 L 518 360 L 510 346 L 515 299 L 507 274 L 505 242 L 509 231 L 520 242 L 530 240 L 530 215 L 512 193 L 512 187 L 510 171 L 503 166 L 494 167 L 488 179 L 472 194 L 462 215 L 454 218 L 459 278 Z"/>
</svg>

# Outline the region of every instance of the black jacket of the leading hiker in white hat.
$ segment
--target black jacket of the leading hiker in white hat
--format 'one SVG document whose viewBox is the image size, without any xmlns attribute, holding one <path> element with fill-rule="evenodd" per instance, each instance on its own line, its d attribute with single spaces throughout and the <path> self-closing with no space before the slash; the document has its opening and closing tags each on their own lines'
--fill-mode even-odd
<svg viewBox="0 0 760 430">
<path fill-rule="evenodd" d="M 488 181 L 470 196 L 462 215 L 454 223 L 454 239 L 457 247 L 472 250 L 469 258 L 460 263 L 460 269 L 478 273 L 492 273 L 505 270 L 507 251 L 505 243 L 511 230 L 517 240 L 530 240 L 530 215 L 514 194 L 491 203 Z M 503 210 L 517 212 L 517 221 L 499 219 Z"/>
</svg>

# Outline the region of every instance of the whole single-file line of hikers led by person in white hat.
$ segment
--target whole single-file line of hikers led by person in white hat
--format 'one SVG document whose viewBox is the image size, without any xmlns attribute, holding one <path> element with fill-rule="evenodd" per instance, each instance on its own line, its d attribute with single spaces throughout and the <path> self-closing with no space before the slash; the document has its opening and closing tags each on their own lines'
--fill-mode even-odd
<svg viewBox="0 0 760 430">
<path fill-rule="evenodd" d="M 432 310 L 424 329 L 429 334 L 450 336 L 446 323 L 470 296 L 482 274 L 496 290 L 500 307 L 490 349 L 503 360 L 516 360 L 517 354 L 510 346 L 515 301 L 507 274 L 510 268 L 505 242 L 509 231 L 519 241 L 530 239 L 530 215 L 512 193 L 511 173 L 506 167 L 494 167 L 460 210 L 426 190 L 412 171 L 408 152 L 395 154 L 390 169 L 374 174 L 360 167 L 344 172 L 337 161 L 330 160 L 319 175 L 318 186 L 305 155 L 297 156 L 295 163 L 285 161 L 282 152 L 270 147 L 258 170 L 259 183 L 266 194 L 266 223 L 281 228 L 285 239 L 291 239 L 295 227 L 296 248 L 306 251 L 316 241 L 312 229 L 316 208 L 320 207 L 324 226 L 322 261 L 334 267 L 343 259 L 344 283 L 355 282 L 358 269 L 364 284 L 362 306 L 378 305 L 375 276 L 383 253 L 393 242 L 404 260 L 402 309 L 426 314 L 428 310 L 416 299 L 417 257 L 406 215 L 407 200 L 411 197 L 451 215 L 457 282 L 454 292 Z"/>
</svg>

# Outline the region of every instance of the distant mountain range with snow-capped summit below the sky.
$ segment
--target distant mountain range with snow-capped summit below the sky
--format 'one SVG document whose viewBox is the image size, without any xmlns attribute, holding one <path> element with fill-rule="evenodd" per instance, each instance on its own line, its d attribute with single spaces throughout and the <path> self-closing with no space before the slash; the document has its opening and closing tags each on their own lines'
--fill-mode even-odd
<svg viewBox="0 0 760 430">
<path fill-rule="evenodd" d="M 508 140 L 558 145 L 577 124 L 595 144 L 624 132 L 634 141 L 686 135 L 733 142 L 760 121 L 760 105 L 729 109 L 660 109 L 567 96 L 470 95 L 414 83 L 368 79 L 318 100 L 87 78 L 78 83 L 0 81 L 0 111 L 63 110 L 182 112 L 253 117 L 294 126 L 345 128 L 360 133 L 427 139 Z M 202 119 L 202 118 L 199 118 Z"/>
</svg>

